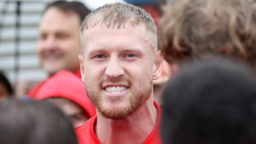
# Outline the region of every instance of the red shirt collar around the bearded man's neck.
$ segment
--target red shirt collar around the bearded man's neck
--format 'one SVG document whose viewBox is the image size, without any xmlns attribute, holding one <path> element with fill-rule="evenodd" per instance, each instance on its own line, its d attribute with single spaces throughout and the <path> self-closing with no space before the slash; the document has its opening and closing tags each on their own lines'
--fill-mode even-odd
<svg viewBox="0 0 256 144">
<path fill-rule="evenodd" d="M 154 127 L 153 131 L 150 133 L 148 138 L 143 142 L 143 144 L 161 144 L 161 137 L 160 137 L 161 107 L 156 102 L 154 102 L 154 106 L 158 110 L 156 126 Z M 97 121 L 97 115 L 87 120 L 87 122 L 82 126 L 76 127 L 75 131 L 76 131 L 79 144 L 100 144 L 100 141 L 98 140 L 98 138 L 94 133 L 96 121 Z"/>
</svg>

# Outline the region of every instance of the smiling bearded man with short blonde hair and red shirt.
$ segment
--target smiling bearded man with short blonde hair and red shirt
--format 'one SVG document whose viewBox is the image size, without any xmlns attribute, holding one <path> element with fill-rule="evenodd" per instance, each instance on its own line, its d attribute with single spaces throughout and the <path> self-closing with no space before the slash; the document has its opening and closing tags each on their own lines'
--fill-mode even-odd
<svg viewBox="0 0 256 144">
<path fill-rule="evenodd" d="M 152 80 L 162 59 L 152 17 L 130 4 L 106 4 L 87 15 L 80 37 L 82 80 L 96 107 L 75 129 L 80 144 L 160 144 Z"/>
</svg>

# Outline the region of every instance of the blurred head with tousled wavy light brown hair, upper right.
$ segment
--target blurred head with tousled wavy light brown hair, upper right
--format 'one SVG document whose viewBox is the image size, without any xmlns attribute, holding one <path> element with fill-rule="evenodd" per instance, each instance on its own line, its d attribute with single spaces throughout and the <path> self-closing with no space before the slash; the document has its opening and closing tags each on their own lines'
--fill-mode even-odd
<svg viewBox="0 0 256 144">
<path fill-rule="evenodd" d="M 169 63 L 215 55 L 256 66 L 256 9 L 250 0 L 169 0 L 160 45 Z"/>
</svg>

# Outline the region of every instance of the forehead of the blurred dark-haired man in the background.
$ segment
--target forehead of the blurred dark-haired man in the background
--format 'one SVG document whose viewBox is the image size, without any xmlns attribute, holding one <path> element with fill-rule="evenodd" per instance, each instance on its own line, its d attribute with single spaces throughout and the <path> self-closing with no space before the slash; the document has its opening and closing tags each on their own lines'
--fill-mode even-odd
<svg viewBox="0 0 256 144">
<path fill-rule="evenodd" d="M 40 30 L 78 30 L 80 26 L 79 16 L 72 11 L 62 11 L 57 7 L 50 7 L 45 11 L 40 23 Z M 72 30 L 74 31 L 74 29 Z"/>
</svg>

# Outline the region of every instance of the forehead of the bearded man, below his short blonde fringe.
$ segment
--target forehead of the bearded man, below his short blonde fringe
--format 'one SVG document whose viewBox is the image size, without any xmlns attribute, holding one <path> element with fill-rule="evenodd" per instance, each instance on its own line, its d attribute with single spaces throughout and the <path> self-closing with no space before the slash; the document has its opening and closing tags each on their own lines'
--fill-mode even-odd
<svg viewBox="0 0 256 144">
<path fill-rule="evenodd" d="M 88 26 L 83 32 L 82 45 L 84 51 L 91 51 L 101 48 L 141 48 L 147 50 L 157 49 L 156 33 L 148 31 L 145 24 L 132 25 L 129 22 L 121 25 L 119 29 L 113 25 L 107 28 L 106 25 L 97 24 Z"/>
</svg>

